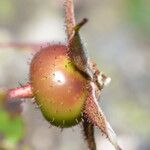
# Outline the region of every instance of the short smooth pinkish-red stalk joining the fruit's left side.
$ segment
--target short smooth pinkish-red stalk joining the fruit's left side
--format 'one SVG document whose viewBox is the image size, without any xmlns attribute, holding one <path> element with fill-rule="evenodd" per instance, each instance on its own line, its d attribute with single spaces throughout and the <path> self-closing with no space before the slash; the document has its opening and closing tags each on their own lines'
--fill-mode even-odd
<svg viewBox="0 0 150 150">
<path fill-rule="evenodd" d="M 12 100 L 17 98 L 32 98 L 32 87 L 30 84 L 13 88 L 7 91 L 6 99 Z"/>
</svg>

